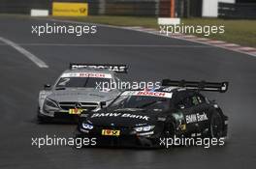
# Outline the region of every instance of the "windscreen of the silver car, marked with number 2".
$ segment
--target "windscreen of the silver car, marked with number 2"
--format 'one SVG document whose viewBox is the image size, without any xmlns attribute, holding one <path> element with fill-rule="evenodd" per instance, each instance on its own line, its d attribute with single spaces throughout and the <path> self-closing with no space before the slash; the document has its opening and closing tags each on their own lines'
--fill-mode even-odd
<svg viewBox="0 0 256 169">
<path fill-rule="evenodd" d="M 102 84 L 110 84 L 111 78 L 98 77 L 61 77 L 56 84 L 56 88 L 99 88 Z"/>
</svg>

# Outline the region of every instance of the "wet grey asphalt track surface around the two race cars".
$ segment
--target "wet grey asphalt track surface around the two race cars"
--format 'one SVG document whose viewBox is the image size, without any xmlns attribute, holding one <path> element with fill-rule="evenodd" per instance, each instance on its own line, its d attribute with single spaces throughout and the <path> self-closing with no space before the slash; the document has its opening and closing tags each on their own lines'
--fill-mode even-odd
<svg viewBox="0 0 256 169">
<path fill-rule="evenodd" d="M 46 20 L 0 17 L 0 37 L 16 42 L 48 64 L 40 69 L 10 45 L 0 42 L 0 168 L 252 168 L 256 164 L 256 58 L 233 51 L 145 33 L 98 27 L 98 33 L 31 34 Z M 57 44 L 57 45 L 56 45 Z M 87 45 L 89 44 L 89 45 Z M 118 44 L 118 45 L 117 45 Z M 122 44 L 122 45 L 120 45 Z M 38 92 L 70 62 L 130 66 L 128 79 L 230 81 L 226 94 L 208 94 L 230 117 L 224 147 L 172 150 L 81 149 L 31 146 L 31 137 L 73 136 L 74 125 L 39 125 Z"/>
</svg>

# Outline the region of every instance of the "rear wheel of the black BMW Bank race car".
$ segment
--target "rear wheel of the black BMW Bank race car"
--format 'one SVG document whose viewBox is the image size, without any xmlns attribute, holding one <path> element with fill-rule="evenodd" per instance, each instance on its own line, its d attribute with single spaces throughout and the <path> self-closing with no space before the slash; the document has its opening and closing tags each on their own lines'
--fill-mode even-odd
<svg viewBox="0 0 256 169">
<path fill-rule="evenodd" d="M 218 111 L 213 111 L 209 118 L 208 136 L 210 138 L 220 138 L 223 136 L 223 120 Z"/>
</svg>

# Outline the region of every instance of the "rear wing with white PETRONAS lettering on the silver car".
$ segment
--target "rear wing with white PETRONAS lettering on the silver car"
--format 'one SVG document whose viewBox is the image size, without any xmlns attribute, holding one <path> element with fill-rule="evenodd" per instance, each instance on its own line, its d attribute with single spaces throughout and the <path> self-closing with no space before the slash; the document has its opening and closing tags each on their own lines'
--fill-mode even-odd
<svg viewBox="0 0 256 169">
<path fill-rule="evenodd" d="M 112 70 L 115 72 L 127 73 L 127 65 L 112 65 L 112 64 L 70 64 L 70 70 L 76 69 L 93 69 L 93 70 Z"/>
</svg>

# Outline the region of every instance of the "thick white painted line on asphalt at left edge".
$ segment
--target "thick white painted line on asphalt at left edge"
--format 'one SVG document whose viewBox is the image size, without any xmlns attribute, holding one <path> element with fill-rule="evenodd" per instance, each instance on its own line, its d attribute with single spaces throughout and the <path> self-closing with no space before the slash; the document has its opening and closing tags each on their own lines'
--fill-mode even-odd
<svg viewBox="0 0 256 169">
<path fill-rule="evenodd" d="M 18 52 L 20 52 L 25 57 L 27 57 L 29 60 L 34 62 L 39 68 L 48 68 L 48 65 L 44 61 L 42 61 L 41 59 L 39 59 L 38 57 L 36 57 L 35 55 L 33 55 L 32 53 L 27 51 L 26 49 L 24 49 L 20 45 L 16 44 L 15 42 L 7 40 L 7 39 L 5 39 L 3 37 L 0 37 L 0 41 L 1 42 L 5 42 L 6 44 L 14 47 Z"/>
</svg>

